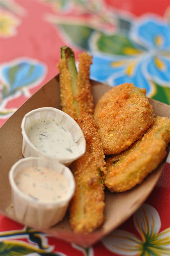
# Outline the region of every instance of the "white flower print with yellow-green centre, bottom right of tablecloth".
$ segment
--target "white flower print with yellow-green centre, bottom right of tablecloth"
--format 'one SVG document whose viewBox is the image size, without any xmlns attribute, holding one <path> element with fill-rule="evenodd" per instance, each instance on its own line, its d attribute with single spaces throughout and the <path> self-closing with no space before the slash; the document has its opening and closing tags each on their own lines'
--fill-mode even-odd
<svg viewBox="0 0 170 256">
<path fill-rule="evenodd" d="M 116 229 L 105 237 L 104 246 L 118 255 L 130 256 L 167 256 L 170 255 L 170 228 L 159 232 L 161 220 L 154 207 L 143 204 L 133 216 L 136 235 Z"/>
</svg>

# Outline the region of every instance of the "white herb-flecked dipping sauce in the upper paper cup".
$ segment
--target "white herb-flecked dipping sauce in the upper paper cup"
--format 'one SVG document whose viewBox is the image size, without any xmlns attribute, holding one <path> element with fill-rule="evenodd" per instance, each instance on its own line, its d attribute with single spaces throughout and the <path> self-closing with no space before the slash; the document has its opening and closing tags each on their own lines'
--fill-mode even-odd
<svg viewBox="0 0 170 256">
<path fill-rule="evenodd" d="M 36 120 L 27 130 L 30 142 L 36 148 L 52 157 L 71 158 L 78 154 L 78 146 L 71 132 L 64 124 L 58 124 L 52 117 Z"/>
</svg>

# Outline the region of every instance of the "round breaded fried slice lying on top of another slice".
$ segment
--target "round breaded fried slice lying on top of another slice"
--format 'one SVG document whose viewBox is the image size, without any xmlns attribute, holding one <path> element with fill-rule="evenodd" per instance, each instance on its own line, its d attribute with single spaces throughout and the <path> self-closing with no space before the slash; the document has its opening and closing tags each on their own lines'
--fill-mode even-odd
<svg viewBox="0 0 170 256">
<path fill-rule="evenodd" d="M 154 121 L 146 90 L 134 84 L 113 87 L 98 101 L 94 118 L 104 154 L 118 154 L 140 139 Z"/>
</svg>

